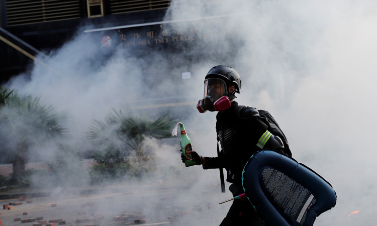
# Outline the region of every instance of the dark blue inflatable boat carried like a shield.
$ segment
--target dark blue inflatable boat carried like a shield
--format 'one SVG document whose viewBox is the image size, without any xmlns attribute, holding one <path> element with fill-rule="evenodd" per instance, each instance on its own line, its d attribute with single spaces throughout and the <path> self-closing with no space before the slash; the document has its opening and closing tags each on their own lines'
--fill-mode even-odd
<svg viewBox="0 0 377 226">
<path fill-rule="evenodd" d="M 242 185 L 267 226 L 312 226 L 336 203 L 334 189 L 320 175 L 290 156 L 268 150 L 249 159 Z"/>
</svg>

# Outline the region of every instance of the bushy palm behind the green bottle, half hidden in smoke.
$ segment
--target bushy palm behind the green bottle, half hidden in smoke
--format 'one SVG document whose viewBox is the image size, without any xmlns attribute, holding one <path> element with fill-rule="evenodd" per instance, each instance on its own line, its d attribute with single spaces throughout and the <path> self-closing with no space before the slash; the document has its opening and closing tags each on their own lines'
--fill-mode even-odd
<svg viewBox="0 0 377 226">
<path fill-rule="evenodd" d="M 175 122 L 172 116 L 161 116 L 150 120 L 140 114 L 133 115 L 130 109 L 120 109 L 109 114 L 104 122 L 93 120 L 89 128 L 88 137 L 96 145 L 113 146 L 117 141 L 127 144 L 135 151 L 139 162 L 146 161 L 145 141 L 149 138 L 171 137 L 170 130 Z M 112 140 L 115 136 L 115 140 Z"/>
</svg>

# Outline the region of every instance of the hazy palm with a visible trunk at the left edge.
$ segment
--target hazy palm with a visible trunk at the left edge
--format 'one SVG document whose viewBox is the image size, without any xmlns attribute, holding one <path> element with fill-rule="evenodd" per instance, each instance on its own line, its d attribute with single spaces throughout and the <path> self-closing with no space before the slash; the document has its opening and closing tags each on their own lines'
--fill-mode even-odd
<svg viewBox="0 0 377 226">
<path fill-rule="evenodd" d="M 53 106 L 43 106 L 40 98 L 20 97 L 17 91 L 7 97 L 0 109 L 0 128 L 8 139 L 13 153 L 13 183 L 17 183 L 25 173 L 29 148 L 36 142 L 43 142 L 62 135 L 66 129 L 58 122 Z M 3 141 L 4 142 L 4 141 Z"/>
</svg>

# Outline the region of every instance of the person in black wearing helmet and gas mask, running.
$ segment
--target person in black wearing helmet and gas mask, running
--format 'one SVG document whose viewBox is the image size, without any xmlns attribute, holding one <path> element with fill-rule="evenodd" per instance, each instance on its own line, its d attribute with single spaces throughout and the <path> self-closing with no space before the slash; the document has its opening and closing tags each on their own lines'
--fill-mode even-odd
<svg viewBox="0 0 377 226">
<path fill-rule="evenodd" d="M 259 112 L 252 107 L 238 106 L 233 100 L 235 93 L 240 93 L 240 88 L 241 78 L 235 69 L 218 65 L 208 72 L 204 98 L 198 102 L 197 108 L 200 112 L 219 111 L 216 132 L 221 151 L 218 150 L 218 157 L 214 158 L 193 152 L 196 163 L 203 165 L 204 169 L 226 169 L 226 180 L 232 183 L 229 190 L 233 197 L 244 193 L 242 170 L 255 152 L 264 148 L 284 151 L 284 138 L 268 131 L 268 125 L 261 120 Z M 259 226 L 264 222 L 248 200 L 235 199 L 220 225 Z"/>
</svg>

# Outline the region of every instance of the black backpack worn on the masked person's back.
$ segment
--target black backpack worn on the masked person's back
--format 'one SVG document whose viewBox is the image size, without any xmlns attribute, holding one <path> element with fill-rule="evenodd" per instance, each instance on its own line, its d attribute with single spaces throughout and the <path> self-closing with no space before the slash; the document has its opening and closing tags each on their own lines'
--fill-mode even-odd
<svg viewBox="0 0 377 226">
<path fill-rule="evenodd" d="M 238 105 L 235 108 L 235 111 L 240 112 L 245 107 L 248 107 L 248 106 Z M 287 137 L 286 137 L 286 135 L 284 135 L 284 133 L 280 129 L 279 125 L 276 123 L 276 120 L 266 110 L 259 109 L 258 112 L 259 112 L 260 119 L 263 121 L 263 123 L 265 123 L 268 126 L 268 131 L 271 134 L 276 135 L 276 136 L 281 138 L 281 141 L 284 144 L 284 153 L 289 155 L 289 156 L 292 156 L 292 152 L 291 152 L 291 149 L 289 147 Z"/>
</svg>

